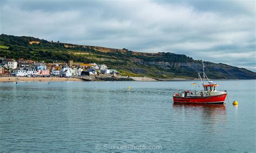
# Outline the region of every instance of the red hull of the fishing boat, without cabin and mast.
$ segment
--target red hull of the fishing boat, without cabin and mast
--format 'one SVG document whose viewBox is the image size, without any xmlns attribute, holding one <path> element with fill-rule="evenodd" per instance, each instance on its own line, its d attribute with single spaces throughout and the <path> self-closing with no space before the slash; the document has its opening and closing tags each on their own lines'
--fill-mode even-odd
<svg viewBox="0 0 256 153">
<path fill-rule="evenodd" d="M 224 104 L 227 94 L 220 94 L 205 97 L 179 97 L 173 96 L 174 103 L 190 103 L 190 104 Z"/>
</svg>

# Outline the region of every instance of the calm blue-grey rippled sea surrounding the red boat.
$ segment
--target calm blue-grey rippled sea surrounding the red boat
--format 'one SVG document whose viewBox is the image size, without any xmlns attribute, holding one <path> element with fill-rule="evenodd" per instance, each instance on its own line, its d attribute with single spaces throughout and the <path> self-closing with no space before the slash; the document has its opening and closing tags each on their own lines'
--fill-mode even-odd
<svg viewBox="0 0 256 153">
<path fill-rule="evenodd" d="M 173 104 L 192 81 L 0 83 L 0 151 L 255 152 L 255 80 L 215 82 L 230 104 Z"/>
</svg>

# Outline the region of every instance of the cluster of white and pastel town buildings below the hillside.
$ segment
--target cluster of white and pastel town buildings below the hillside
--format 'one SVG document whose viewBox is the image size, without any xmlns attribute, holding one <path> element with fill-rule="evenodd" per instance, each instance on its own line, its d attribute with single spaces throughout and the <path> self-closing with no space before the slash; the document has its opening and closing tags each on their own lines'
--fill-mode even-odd
<svg viewBox="0 0 256 153">
<path fill-rule="evenodd" d="M 73 76 L 120 76 L 116 69 L 105 64 L 82 63 L 69 60 L 68 63 L 45 63 L 44 61 L 6 59 L 0 57 L 0 75 L 16 77 L 73 77 Z"/>
</svg>

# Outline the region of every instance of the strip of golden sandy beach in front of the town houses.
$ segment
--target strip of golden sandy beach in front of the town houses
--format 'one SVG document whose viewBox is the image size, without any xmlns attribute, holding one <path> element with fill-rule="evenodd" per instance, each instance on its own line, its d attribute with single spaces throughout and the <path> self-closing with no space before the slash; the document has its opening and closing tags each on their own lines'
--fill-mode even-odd
<svg viewBox="0 0 256 153">
<path fill-rule="evenodd" d="M 60 81 L 83 81 L 83 80 L 78 78 L 64 78 L 64 77 L 0 77 L 0 82 L 20 82 L 20 81 L 60 82 Z"/>
</svg>

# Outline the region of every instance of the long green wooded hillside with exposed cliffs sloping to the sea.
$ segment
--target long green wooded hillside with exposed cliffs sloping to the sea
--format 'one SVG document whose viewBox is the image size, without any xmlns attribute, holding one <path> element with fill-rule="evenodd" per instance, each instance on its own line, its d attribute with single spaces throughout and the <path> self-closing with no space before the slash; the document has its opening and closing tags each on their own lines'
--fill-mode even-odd
<svg viewBox="0 0 256 153">
<path fill-rule="evenodd" d="M 31 44 L 30 44 L 31 43 Z M 173 53 L 139 53 L 131 50 L 50 42 L 33 37 L 0 35 L 0 57 L 45 62 L 73 60 L 84 63 L 105 63 L 130 76 L 153 78 L 197 78 L 201 61 Z M 210 78 L 255 79 L 256 73 L 226 64 L 205 62 Z"/>
</svg>

